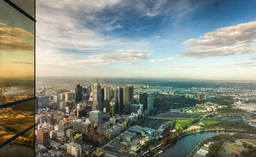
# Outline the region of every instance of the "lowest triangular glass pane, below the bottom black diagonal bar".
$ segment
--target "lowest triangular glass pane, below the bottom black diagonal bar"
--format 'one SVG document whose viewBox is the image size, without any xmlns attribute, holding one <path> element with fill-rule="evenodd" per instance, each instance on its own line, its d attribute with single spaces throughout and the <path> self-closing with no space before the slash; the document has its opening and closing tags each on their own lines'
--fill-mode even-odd
<svg viewBox="0 0 256 157">
<path fill-rule="evenodd" d="M 8 157 L 33 157 L 34 128 L 0 148 L 0 156 L 1 155 L 6 155 Z"/>
</svg>

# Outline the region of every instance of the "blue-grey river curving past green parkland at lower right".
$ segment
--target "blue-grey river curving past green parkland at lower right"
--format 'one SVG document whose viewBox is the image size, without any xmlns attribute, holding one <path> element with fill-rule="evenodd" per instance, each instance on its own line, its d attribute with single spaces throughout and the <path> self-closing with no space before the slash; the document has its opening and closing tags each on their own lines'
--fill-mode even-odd
<svg viewBox="0 0 256 157">
<path fill-rule="evenodd" d="M 195 135 L 188 135 L 173 143 L 170 147 L 163 150 L 157 157 L 184 157 L 200 141 L 227 132 L 204 132 Z M 233 133 L 229 133 L 233 134 Z"/>
</svg>

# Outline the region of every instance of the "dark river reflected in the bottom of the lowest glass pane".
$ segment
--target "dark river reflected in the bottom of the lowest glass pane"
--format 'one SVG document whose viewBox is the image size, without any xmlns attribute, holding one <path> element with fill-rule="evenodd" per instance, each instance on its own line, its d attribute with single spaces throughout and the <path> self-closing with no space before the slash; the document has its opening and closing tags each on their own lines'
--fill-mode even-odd
<svg viewBox="0 0 256 157">
<path fill-rule="evenodd" d="M 7 144 L 0 149 L 0 154 L 8 157 L 34 157 L 34 147 L 18 144 Z"/>
</svg>

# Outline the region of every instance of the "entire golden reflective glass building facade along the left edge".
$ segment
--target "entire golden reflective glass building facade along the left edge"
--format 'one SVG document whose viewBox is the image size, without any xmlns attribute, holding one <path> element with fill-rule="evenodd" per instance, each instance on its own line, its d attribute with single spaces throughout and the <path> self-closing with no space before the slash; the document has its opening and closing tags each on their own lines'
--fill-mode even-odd
<svg viewBox="0 0 256 157">
<path fill-rule="evenodd" d="M 35 0 L 0 0 L 0 156 L 34 156 Z"/>
</svg>

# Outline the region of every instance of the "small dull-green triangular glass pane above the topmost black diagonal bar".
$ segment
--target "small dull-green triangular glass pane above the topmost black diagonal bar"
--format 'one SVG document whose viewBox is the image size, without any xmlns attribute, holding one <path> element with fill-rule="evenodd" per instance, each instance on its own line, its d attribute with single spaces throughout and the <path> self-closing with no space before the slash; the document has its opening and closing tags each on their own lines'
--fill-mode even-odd
<svg viewBox="0 0 256 157">
<path fill-rule="evenodd" d="M 32 18 L 35 18 L 35 0 L 11 0 L 12 3 L 28 13 Z"/>
</svg>

